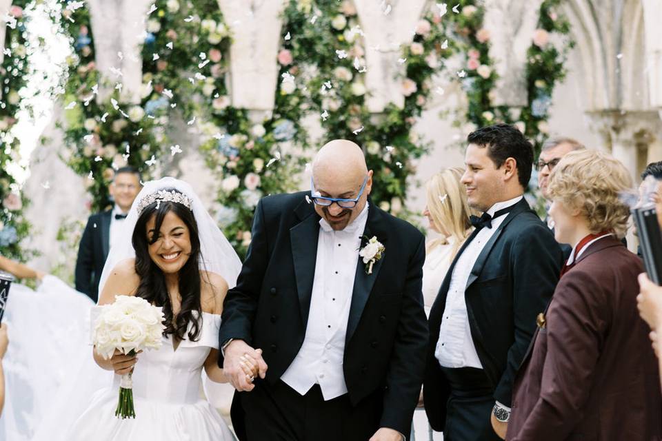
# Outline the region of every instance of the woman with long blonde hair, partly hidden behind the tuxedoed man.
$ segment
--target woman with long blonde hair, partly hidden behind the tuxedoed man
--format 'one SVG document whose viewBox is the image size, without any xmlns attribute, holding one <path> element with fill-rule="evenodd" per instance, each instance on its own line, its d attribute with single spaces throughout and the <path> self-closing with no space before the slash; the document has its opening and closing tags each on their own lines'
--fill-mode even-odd
<svg viewBox="0 0 662 441">
<path fill-rule="evenodd" d="M 447 168 L 432 176 L 427 184 L 423 216 L 428 218 L 430 229 L 441 235 L 428 244 L 423 265 L 423 300 L 428 315 L 446 271 L 472 230 L 469 216 L 474 213 L 460 182 L 463 174 L 460 167 Z"/>
</svg>

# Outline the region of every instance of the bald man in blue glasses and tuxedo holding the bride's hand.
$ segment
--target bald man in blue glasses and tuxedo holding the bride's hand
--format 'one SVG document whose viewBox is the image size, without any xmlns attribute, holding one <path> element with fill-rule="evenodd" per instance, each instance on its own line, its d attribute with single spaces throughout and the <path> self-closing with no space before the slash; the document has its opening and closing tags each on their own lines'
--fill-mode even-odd
<svg viewBox="0 0 662 441">
<path fill-rule="evenodd" d="M 428 341 L 423 235 L 370 203 L 372 170 L 350 141 L 319 150 L 310 184 L 257 205 L 225 298 L 234 428 L 249 441 L 403 440 Z"/>
</svg>

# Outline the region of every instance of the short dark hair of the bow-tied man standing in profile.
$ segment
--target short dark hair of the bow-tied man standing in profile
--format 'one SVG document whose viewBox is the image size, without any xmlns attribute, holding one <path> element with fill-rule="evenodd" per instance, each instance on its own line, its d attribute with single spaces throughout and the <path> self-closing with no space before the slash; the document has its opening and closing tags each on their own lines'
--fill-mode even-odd
<svg viewBox="0 0 662 441">
<path fill-rule="evenodd" d="M 488 147 L 488 156 L 496 168 L 505 160 L 514 158 L 517 163 L 517 176 L 523 188 L 529 185 L 533 167 L 533 145 L 514 125 L 495 124 L 481 127 L 467 136 L 470 144 Z"/>
</svg>

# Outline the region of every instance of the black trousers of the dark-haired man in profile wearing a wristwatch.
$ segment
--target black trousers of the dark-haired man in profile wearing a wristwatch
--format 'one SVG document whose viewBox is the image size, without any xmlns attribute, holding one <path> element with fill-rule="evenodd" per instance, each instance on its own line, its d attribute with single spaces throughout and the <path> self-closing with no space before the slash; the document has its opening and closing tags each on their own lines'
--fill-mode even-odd
<svg viewBox="0 0 662 441">
<path fill-rule="evenodd" d="M 444 441 L 501 441 L 492 429 L 494 387 L 483 369 L 442 368 L 450 383 Z"/>
</svg>

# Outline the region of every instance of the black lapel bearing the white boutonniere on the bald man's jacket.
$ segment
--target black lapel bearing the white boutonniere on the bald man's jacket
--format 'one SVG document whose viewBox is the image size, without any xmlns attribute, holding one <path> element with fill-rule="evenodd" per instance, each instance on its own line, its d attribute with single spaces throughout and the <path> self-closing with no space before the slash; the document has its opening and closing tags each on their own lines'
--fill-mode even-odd
<svg viewBox="0 0 662 441">
<path fill-rule="evenodd" d="M 379 276 L 379 270 L 381 265 L 388 255 L 389 249 L 386 245 L 388 242 L 387 236 L 388 229 L 385 227 L 382 214 L 378 211 L 377 207 L 374 207 L 372 203 L 368 206 L 368 220 L 365 223 L 365 230 L 363 231 L 363 236 L 368 239 L 372 236 L 377 237 L 377 240 L 384 245 L 384 252 L 381 255 L 381 259 L 377 260 L 372 266 L 372 273 L 366 274 L 365 272 L 365 263 L 363 263 L 363 258 L 359 256 L 359 250 L 357 250 L 357 272 L 354 276 L 354 291 L 352 292 L 352 303 L 350 305 L 350 316 L 347 322 L 347 335 L 345 336 L 345 345 L 350 341 L 354 331 L 359 325 L 359 320 L 361 319 L 361 314 L 363 314 L 363 309 L 365 308 L 365 303 L 368 302 L 370 297 L 370 291 L 374 286 L 377 276 Z M 361 247 L 365 245 L 365 241 L 361 240 Z"/>
</svg>

